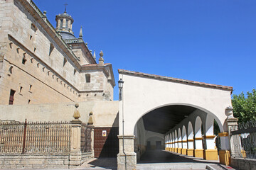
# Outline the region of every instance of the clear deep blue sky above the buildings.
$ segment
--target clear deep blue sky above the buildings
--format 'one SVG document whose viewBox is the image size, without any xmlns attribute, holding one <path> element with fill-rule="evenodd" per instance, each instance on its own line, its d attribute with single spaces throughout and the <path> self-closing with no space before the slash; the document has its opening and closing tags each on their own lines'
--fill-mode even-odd
<svg viewBox="0 0 256 170">
<path fill-rule="evenodd" d="M 73 31 L 105 62 L 128 69 L 233 86 L 256 84 L 255 0 L 34 0 L 55 26 L 55 15 L 74 18 Z M 114 100 L 118 100 L 118 87 Z"/>
</svg>

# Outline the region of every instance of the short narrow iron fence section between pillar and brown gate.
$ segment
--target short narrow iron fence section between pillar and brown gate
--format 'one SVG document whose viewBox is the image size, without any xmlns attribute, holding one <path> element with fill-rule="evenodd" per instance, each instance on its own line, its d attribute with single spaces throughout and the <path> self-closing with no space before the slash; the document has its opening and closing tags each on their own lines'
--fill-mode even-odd
<svg viewBox="0 0 256 170">
<path fill-rule="evenodd" d="M 92 151 L 92 128 L 87 126 L 85 123 L 81 125 L 81 152 L 91 152 Z"/>
</svg>

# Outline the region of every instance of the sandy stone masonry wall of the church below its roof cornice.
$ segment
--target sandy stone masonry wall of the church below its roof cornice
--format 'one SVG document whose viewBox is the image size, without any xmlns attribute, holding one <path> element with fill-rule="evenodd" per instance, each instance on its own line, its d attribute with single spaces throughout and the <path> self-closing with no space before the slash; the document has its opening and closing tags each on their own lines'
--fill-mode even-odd
<svg viewBox="0 0 256 170">
<path fill-rule="evenodd" d="M 104 99 L 102 71 L 91 72 L 87 84 L 87 72 L 78 72 L 42 22 L 20 1 L 0 1 L 0 104 L 9 104 L 11 89 L 16 91 L 14 104 Z"/>
</svg>

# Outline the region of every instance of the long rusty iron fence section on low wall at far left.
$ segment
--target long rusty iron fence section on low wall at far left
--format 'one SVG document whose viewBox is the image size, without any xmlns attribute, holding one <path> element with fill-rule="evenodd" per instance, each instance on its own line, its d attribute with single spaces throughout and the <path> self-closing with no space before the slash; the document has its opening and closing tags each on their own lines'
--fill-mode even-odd
<svg viewBox="0 0 256 170">
<path fill-rule="evenodd" d="M 71 125 L 68 122 L 1 122 L 1 153 L 69 152 Z"/>
</svg>

